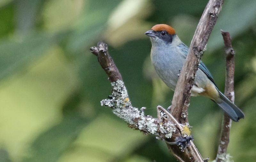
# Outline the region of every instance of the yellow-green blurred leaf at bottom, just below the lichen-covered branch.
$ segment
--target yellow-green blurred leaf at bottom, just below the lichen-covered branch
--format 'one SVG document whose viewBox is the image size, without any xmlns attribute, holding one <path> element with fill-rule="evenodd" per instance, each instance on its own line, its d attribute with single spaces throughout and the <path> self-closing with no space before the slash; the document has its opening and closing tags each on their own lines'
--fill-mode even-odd
<svg viewBox="0 0 256 162">
<path fill-rule="evenodd" d="M 111 111 L 110 108 L 104 109 Z M 129 156 L 147 140 L 147 136 L 129 128 L 122 119 L 101 113 L 81 132 L 74 142 L 74 147 L 85 153 L 84 161 L 107 162 Z M 74 147 L 67 153 L 74 154 Z M 95 157 L 93 152 L 102 156 Z"/>
</svg>

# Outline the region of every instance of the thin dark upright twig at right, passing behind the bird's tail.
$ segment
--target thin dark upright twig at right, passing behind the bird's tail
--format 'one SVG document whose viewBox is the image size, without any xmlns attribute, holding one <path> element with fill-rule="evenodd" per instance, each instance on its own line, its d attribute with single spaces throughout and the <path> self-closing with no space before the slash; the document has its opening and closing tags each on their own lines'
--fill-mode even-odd
<svg viewBox="0 0 256 162">
<path fill-rule="evenodd" d="M 235 51 L 232 48 L 229 32 L 223 32 L 221 30 L 221 34 L 224 39 L 225 53 L 226 53 L 226 81 L 225 81 L 224 94 L 228 97 L 230 101 L 234 103 L 234 100 L 235 100 L 235 93 L 234 93 Z M 232 120 L 230 119 L 230 117 L 226 113 L 224 113 L 222 124 L 221 124 L 220 143 L 219 143 L 218 152 L 216 156 L 216 162 L 222 162 L 226 158 L 231 123 L 232 123 Z"/>
</svg>

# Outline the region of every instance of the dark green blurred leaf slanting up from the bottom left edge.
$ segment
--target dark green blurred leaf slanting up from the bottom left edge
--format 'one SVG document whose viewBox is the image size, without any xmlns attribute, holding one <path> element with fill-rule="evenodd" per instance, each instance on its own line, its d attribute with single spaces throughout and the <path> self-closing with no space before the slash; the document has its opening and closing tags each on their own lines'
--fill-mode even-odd
<svg viewBox="0 0 256 162">
<path fill-rule="evenodd" d="M 69 114 L 60 124 L 39 135 L 30 147 L 31 155 L 24 162 L 57 161 L 90 120 Z"/>
</svg>

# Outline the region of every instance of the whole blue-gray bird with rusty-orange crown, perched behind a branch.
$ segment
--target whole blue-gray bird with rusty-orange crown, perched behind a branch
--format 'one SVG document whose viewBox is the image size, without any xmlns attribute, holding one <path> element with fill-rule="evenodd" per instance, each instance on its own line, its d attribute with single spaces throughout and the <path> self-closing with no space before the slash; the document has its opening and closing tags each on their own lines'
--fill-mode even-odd
<svg viewBox="0 0 256 162">
<path fill-rule="evenodd" d="M 154 25 L 145 34 L 151 40 L 150 57 L 156 73 L 174 91 L 188 55 L 188 46 L 182 43 L 175 30 L 166 24 Z M 191 96 L 203 95 L 210 98 L 235 122 L 244 118 L 243 111 L 220 92 L 202 61 L 199 63 L 190 93 Z"/>
</svg>

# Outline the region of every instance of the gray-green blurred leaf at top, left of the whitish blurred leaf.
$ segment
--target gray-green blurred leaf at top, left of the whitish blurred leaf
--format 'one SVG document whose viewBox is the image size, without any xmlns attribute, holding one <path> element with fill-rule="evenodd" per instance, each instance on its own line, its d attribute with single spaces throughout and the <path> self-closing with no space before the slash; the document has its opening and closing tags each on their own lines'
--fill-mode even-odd
<svg viewBox="0 0 256 162">
<path fill-rule="evenodd" d="M 80 52 L 91 42 L 98 42 L 100 34 L 106 30 L 108 17 L 120 0 L 90 0 L 86 10 L 76 23 L 68 42 L 68 51 Z"/>
</svg>

